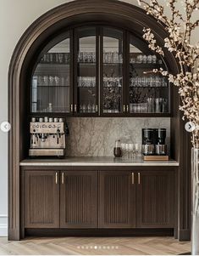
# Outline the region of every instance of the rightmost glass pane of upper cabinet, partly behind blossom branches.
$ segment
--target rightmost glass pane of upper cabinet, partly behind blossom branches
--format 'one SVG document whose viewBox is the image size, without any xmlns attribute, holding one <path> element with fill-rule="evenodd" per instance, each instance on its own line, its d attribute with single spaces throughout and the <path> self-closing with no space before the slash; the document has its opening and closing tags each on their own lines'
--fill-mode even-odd
<svg viewBox="0 0 199 256">
<path fill-rule="evenodd" d="M 169 113 L 168 78 L 159 73 L 152 73 L 153 69 L 160 67 L 167 70 L 166 66 L 146 45 L 145 52 L 135 45 L 139 45 L 137 38 L 130 35 L 130 113 Z"/>
</svg>

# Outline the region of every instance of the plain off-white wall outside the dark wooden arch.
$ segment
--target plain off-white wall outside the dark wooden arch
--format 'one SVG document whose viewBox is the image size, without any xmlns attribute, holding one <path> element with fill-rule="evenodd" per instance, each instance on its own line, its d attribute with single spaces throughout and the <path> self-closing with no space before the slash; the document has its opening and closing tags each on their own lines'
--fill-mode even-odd
<svg viewBox="0 0 199 256">
<path fill-rule="evenodd" d="M 8 119 L 8 65 L 16 43 L 26 28 L 41 14 L 68 2 L 70 0 L 0 0 L 0 123 Z M 136 0 L 124 2 L 137 5 Z M 7 234 L 7 139 L 7 134 L 0 130 L 0 236 Z"/>
</svg>

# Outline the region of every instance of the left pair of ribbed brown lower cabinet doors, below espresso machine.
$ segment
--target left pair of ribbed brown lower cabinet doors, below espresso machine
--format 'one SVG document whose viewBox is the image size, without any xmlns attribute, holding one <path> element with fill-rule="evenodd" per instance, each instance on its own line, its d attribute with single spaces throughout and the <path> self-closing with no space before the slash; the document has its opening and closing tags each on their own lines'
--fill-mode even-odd
<svg viewBox="0 0 199 256">
<path fill-rule="evenodd" d="M 25 171 L 25 228 L 96 228 L 97 171 Z"/>
</svg>

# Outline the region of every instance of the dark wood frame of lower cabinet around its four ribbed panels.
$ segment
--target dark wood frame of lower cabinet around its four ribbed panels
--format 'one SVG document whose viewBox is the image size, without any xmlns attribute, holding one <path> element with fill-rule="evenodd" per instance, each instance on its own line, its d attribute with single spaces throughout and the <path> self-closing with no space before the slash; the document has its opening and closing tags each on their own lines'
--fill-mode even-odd
<svg viewBox="0 0 199 256">
<path fill-rule="evenodd" d="M 113 232 L 111 230 L 114 230 L 115 234 L 114 236 L 119 236 L 119 234 L 121 236 L 154 236 L 155 234 L 157 236 L 174 236 L 174 234 L 177 232 L 178 230 L 178 226 L 174 225 L 174 218 L 177 218 L 177 213 L 178 213 L 178 208 L 174 205 L 174 203 L 172 202 L 173 200 L 176 200 L 176 198 L 174 198 L 173 196 L 173 192 L 174 192 L 174 187 L 177 185 L 177 181 L 175 180 L 175 176 L 174 174 L 177 174 L 178 172 L 178 167 L 167 167 L 167 166 L 163 166 L 163 167 L 141 167 L 141 166 L 133 166 L 133 167 L 106 167 L 106 166 L 88 166 L 88 167 L 81 167 L 81 166 L 71 166 L 71 167 L 53 167 L 53 166 L 40 166 L 40 167 L 36 167 L 36 166 L 23 166 L 20 168 L 20 181 L 21 181 L 21 185 L 20 185 L 20 198 L 21 198 L 21 204 L 20 204 L 20 208 L 21 208 L 21 212 L 22 214 L 20 215 L 20 238 L 24 238 L 26 235 L 29 236 L 30 234 L 33 234 L 33 236 L 35 234 L 37 234 L 36 236 L 41 236 L 42 232 L 45 233 L 45 229 L 44 227 L 40 226 L 40 224 L 38 225 L 32 225 L 29 226 L 25 226 L 25 214 L 24 214 L 24 210 L 26 209 L 26 213 L 27 211 L 27 206 L 25 204 L 27 204 L 27 195 L 25 194 L 25 180 L 27 180 L 27 177 L 29 177 L 30 174 L 35 174 L 38 172 L 38 175 L 42 174 L 45 175 L 47 174 L 53 174 L 53 176 L 55 177 L 55 174 L 58 173 L 58 184 L 56 185 L 56 191 L 60 190 L 59 193 L 58 191 L 56 192 L 56 195 L 59 194 L 60 196 L 60 201 L 58 201 L 58 203 L 60 202 L 60 216 L 58 215 L 58 213 L 55 213 L 54 216 L 57 217 L 58 219 L 60 218 L 60 226 L 61 227 L 57 227 L 57 230 L 54 233 L 54 229 L 51 228 L 50 226 L 47 227 L 47 230 L 50 231 L 50 233 L 47 236 L 54 236 L 54 234 L 59 234 L 60 236 L 105 236 L 106 232 L 108 234 L 108 236 L 113 236 Z M 26 174 L 25 174 L 26 173 Z M 76 225 L 65 225 L 61 219 L 64 218 L 64 205 L 65 205 L 65 199 L 64 197 L 61 199 L 61 197 L 64 194 L 64 186 L 62 184 L 62 173 L 64 173 L 64 183 L 65 183 L 65 179 L 67 179 L 67 174 L 69 175 L 75 175 L 78 176 L 79 174 L 82 175 L 91 175 L 92 179 L 93 179 L 93 184 L 92 184 L 92 189 L 94 191 L 94 197 L 95 200 L 92 202 L 93 206 L 95 204 L 95 202 L 97 202 L 97 208 L 94 207 L 92 214 L 95 213 L 99 213 L 98 215 L 98 227 L 95 227 L 93 225 L 89 226 L 89 225 L 80 225 L 78 224 L 78 227 Z M 134 173 L 134 184 L 132 184 L 132 176 L 131 174 Z M 148 177 L 150 177 L 150 174 L 152 175 L 163 175 L 165 174 L 168 178 L 169 178 L 169 188 L 171 189 L 171 191 L 168 191 L 170 194 L 170 202 L 171 202 L 171 211 L 169 211 L 169 213 L 171 215 L 169 218 L 169 223 L 167 225 L 154 225 L 152 224 L 152 227 L 150 226 L 143 226 L 143 227 L 139 227 L 137 226 L 138 224 L 138 220 L 136 219 L 137 217 L 137 210 L 138 208 L 141 207 L 140 202 L 141 202 L 141 198 L 139 198 L 140 194 L 136 193 L 136 190 L 138 189 L 138 187 L 140 185 L 138 185 L 138 173 L 142 174 L 149 174 L 147 175 Z M 129 179 L 129 188 L 128 190 L 130 191 L 130 198 L 129 198 L 129 207 L 130 207 L 130 215 L 129 215 L 129 221 L 128 224 L 122 225 L 122 224 L 110 224 L 110 225 L 104 225 L 103 224 L 103 209 L 104 209 L 104 202 L 102 200 L 103 197 L 103 190 L 104 190 L 104 186 L 103 186 L 103 177 L 104 175 L 121 175 L 121 177 L 123 175 L 127 175 L 128 179 Z M 37 175 L 37 176 L 38 176 Z M 95 179 L 95 181 L 94 181 Z M 97 182 L 98 180 L 98 182 Z M 141 188 L 140 188 L 141 189 Z M 98 199 L 96 198 L 98 193 Z M 138 200 L 136 199 L 136 197 L 138 196 Z M 94 198 L 93 198 L 94 199 Z M 58 210 L 58 208 L 56 209 L 56 212 Z M 134 208 L 134 209 L 133 209 Z M 137 209 L 136 209 L 137 208 Z M 96 215 L 96 217 L 97 217 Z M 95 217 L 94 217 L 95 219 Z M 135 220 L 136 219 L 136 220 Z M 66 229 L 65 229 L 66 228 Z M 28 233 L 27 233 L 28 230 Z M 30 230 L 30 234 L 29 234 L 29 230 Z M 38 233 L 36 231 L 33 230 L 38 230 Z M 102 231 L 102 230 L 106 230 L 106 231 Z M 74 231 L 74 232 L 73 232 Z M 39 233 L 41 232 L 41 233 Z M 169 232 L 169 233 L 168 233 Z M 46 234 L 46 233 L 45 233 Z"/>
</svg>

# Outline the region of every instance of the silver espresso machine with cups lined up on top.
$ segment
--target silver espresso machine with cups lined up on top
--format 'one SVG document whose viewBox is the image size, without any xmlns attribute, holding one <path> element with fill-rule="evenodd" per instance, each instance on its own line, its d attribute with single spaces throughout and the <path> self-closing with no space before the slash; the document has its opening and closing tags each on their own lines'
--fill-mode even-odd
<svg viewBox="0 0 199 256">
<path fill-rule="evenodd" d="M 29 156 L 64 156 L 65 125 L 63 118 L 40 117 L 30 122 Z"/>
</svg>

